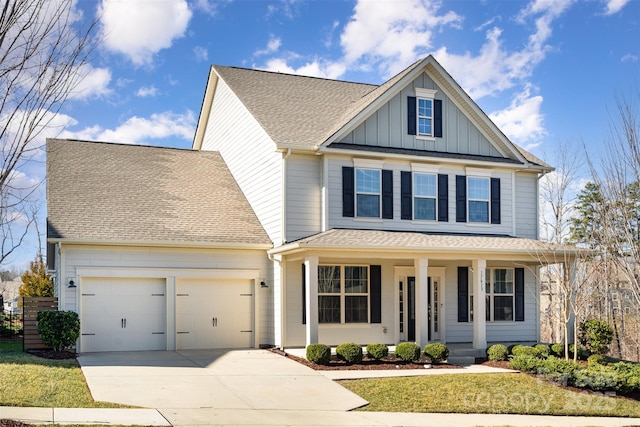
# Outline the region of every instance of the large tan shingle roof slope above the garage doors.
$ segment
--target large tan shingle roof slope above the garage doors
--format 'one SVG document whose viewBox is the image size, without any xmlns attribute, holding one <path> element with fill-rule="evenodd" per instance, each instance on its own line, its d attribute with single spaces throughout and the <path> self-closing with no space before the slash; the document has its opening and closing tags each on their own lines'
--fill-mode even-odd
<svg viewBox="0 0 640 427">
<path fill-rule="evenodd" d="M 271 245 L 217 152 L 49 139 L 47 210 L 49 239 Z"/>
</svg>

